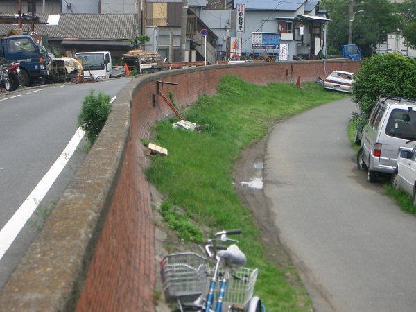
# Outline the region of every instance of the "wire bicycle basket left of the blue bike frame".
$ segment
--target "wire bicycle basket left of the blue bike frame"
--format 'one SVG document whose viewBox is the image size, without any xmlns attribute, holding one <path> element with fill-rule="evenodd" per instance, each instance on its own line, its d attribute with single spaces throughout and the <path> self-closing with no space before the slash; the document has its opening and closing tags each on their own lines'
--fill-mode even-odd
<svg viewBox="0 0 416 312">
<path fill-rule="evenodd" d="M 207 259 L 193 252 L 168 254 L 160 262 L 166 302 L 194 302 L 204 293 Z"/>
</svg>

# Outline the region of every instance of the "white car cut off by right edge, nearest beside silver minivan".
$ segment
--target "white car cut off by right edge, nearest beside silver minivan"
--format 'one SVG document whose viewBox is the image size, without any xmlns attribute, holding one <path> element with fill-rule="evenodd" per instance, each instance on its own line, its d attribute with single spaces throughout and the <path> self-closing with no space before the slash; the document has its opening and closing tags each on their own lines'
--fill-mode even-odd
<svg viewBox="0 0 416 312">
<path fill-rule="evenodd" d="M 416 148 L 401 147 L 397 166 L 391 178 L 392 187 L 405 191 L 413 200 L 416 196 Z"/>
</svg>

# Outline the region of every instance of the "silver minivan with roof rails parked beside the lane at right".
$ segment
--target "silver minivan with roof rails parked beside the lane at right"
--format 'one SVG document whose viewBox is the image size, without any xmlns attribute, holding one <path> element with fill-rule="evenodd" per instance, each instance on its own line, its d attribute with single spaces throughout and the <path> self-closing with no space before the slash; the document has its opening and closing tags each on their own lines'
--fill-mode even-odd
<svg viewBox="0 0 416 312">
<path fill-rule="evenodd" d="M 395 171 L 400 146 L 416 146 L 416 102 L 381 96 L 363 128 L 357 154 L 358 168 L 368 171 L 368 182 L 375 182 L 378 173 Z"/>
</svg>

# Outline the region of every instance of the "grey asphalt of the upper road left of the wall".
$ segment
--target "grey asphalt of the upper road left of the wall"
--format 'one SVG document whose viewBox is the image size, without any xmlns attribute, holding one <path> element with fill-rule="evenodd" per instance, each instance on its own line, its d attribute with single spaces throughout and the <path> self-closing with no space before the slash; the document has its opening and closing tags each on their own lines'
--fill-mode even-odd
<svg viewBox="0 0 416 312">
<path fill-rule="evenodd" d="M 91 89 L 114 97 L 129 81 L 130 78 L 119 78 L 0 93 L 0 229 L 12 218 L 76 133 L 83 98 Z M 53 187 L 1 258 L 0 289 L 40 231 L 46 214 L 53 209 L 82 164 L 85 158 L 83 146 L 81 141 Z"/>
</svg>

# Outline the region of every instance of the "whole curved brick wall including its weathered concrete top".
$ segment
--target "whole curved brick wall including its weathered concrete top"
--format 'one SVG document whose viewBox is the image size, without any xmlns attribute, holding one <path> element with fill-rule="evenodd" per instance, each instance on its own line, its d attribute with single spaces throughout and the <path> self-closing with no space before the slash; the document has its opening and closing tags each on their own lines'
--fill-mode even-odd
<svg viewBox="0 0 416 312">
<path fill-rule="evenodd" d="M 301 83 L 359 62 L 277 62 L 164 71 L 132 80 L 42 232 L 0 293 L 0 311 L 153 312 L 155 228 L 148 166 L 141 139 L 173 112 L 157 96 L 157 81 L 179 107 L 216 94 L 227 73 L 259 85 Z"/>
</svg>

